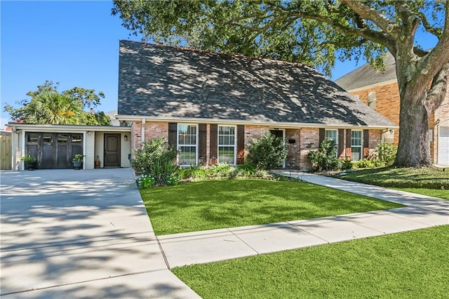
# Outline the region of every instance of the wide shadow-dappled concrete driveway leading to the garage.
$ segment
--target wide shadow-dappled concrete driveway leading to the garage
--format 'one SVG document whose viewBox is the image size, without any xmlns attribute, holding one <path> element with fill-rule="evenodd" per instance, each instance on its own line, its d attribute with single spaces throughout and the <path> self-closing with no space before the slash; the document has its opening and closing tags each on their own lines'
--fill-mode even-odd
<svg viewBox="0 0 449 299">
<path fill-rule="evenodd" d="M 130 169 L 0 175 L 0 295 L 198 297 L 168 270 Z"/>
</svg>

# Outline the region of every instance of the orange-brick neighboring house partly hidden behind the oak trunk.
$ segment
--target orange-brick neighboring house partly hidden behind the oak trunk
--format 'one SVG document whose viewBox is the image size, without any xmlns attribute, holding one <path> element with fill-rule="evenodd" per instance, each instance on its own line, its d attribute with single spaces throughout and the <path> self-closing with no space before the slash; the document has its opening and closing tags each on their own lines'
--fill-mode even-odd
<svg viewBox="0 0 449 299">
<path fill-rule="evenodd" d="M 400 98 L 393 55 L 388 54 L 384 63 L 384 72 L 378 72 L 366 64 L 335 80 L 335 83 L 399 126 Z M 397 145 L 398 130 L 384 138 Z M 449 93 L 443 104 L 429 117 L 429 140 L 434 164 L 449 165 Z"/>
</svg>

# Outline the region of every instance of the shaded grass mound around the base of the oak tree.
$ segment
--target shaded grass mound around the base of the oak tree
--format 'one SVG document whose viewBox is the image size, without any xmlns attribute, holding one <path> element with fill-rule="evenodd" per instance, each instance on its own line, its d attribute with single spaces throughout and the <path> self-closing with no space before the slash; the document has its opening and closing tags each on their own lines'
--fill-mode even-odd
<svg viewBox="0 0 449 299">
<path fill-rule="evenodd" d="M 449 190 L 449 172 L 437 168 L 370 168 L 349 171 L 344 180 L 396 188 Z"/>
</svg>

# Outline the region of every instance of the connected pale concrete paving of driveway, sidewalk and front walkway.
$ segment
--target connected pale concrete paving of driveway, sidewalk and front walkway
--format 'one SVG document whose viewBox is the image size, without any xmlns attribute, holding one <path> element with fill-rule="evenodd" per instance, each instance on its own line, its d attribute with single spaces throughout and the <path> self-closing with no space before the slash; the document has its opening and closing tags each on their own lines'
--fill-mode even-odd
<svg viewBox="0 0 449 299">
<path fill-rule="evenodd" d="M 449 224 L 449 201 L 291 175 L 406 207 L 156 239 L 129 169 L 2 172 L 1 295 L 199 298 L 168 267 Z"/>
</svg>

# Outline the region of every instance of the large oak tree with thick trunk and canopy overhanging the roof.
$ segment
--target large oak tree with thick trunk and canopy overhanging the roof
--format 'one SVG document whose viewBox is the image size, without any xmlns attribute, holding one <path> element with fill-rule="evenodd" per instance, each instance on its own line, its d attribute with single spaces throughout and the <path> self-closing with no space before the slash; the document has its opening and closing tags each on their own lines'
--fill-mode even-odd
<svg viewBox="0 0 449 299">
<path fill-rule="evenodd" d="M 401 96 L 396 166 L 428 166 L 429 114 L 448 93 L 449 1 L 122 1 L 113 15 L 161 44 L 305 62 L 330 74 L 335 59 L 396 59 Z M 416 41 L 422 29 L 438 39 Z"/>
</svg>

